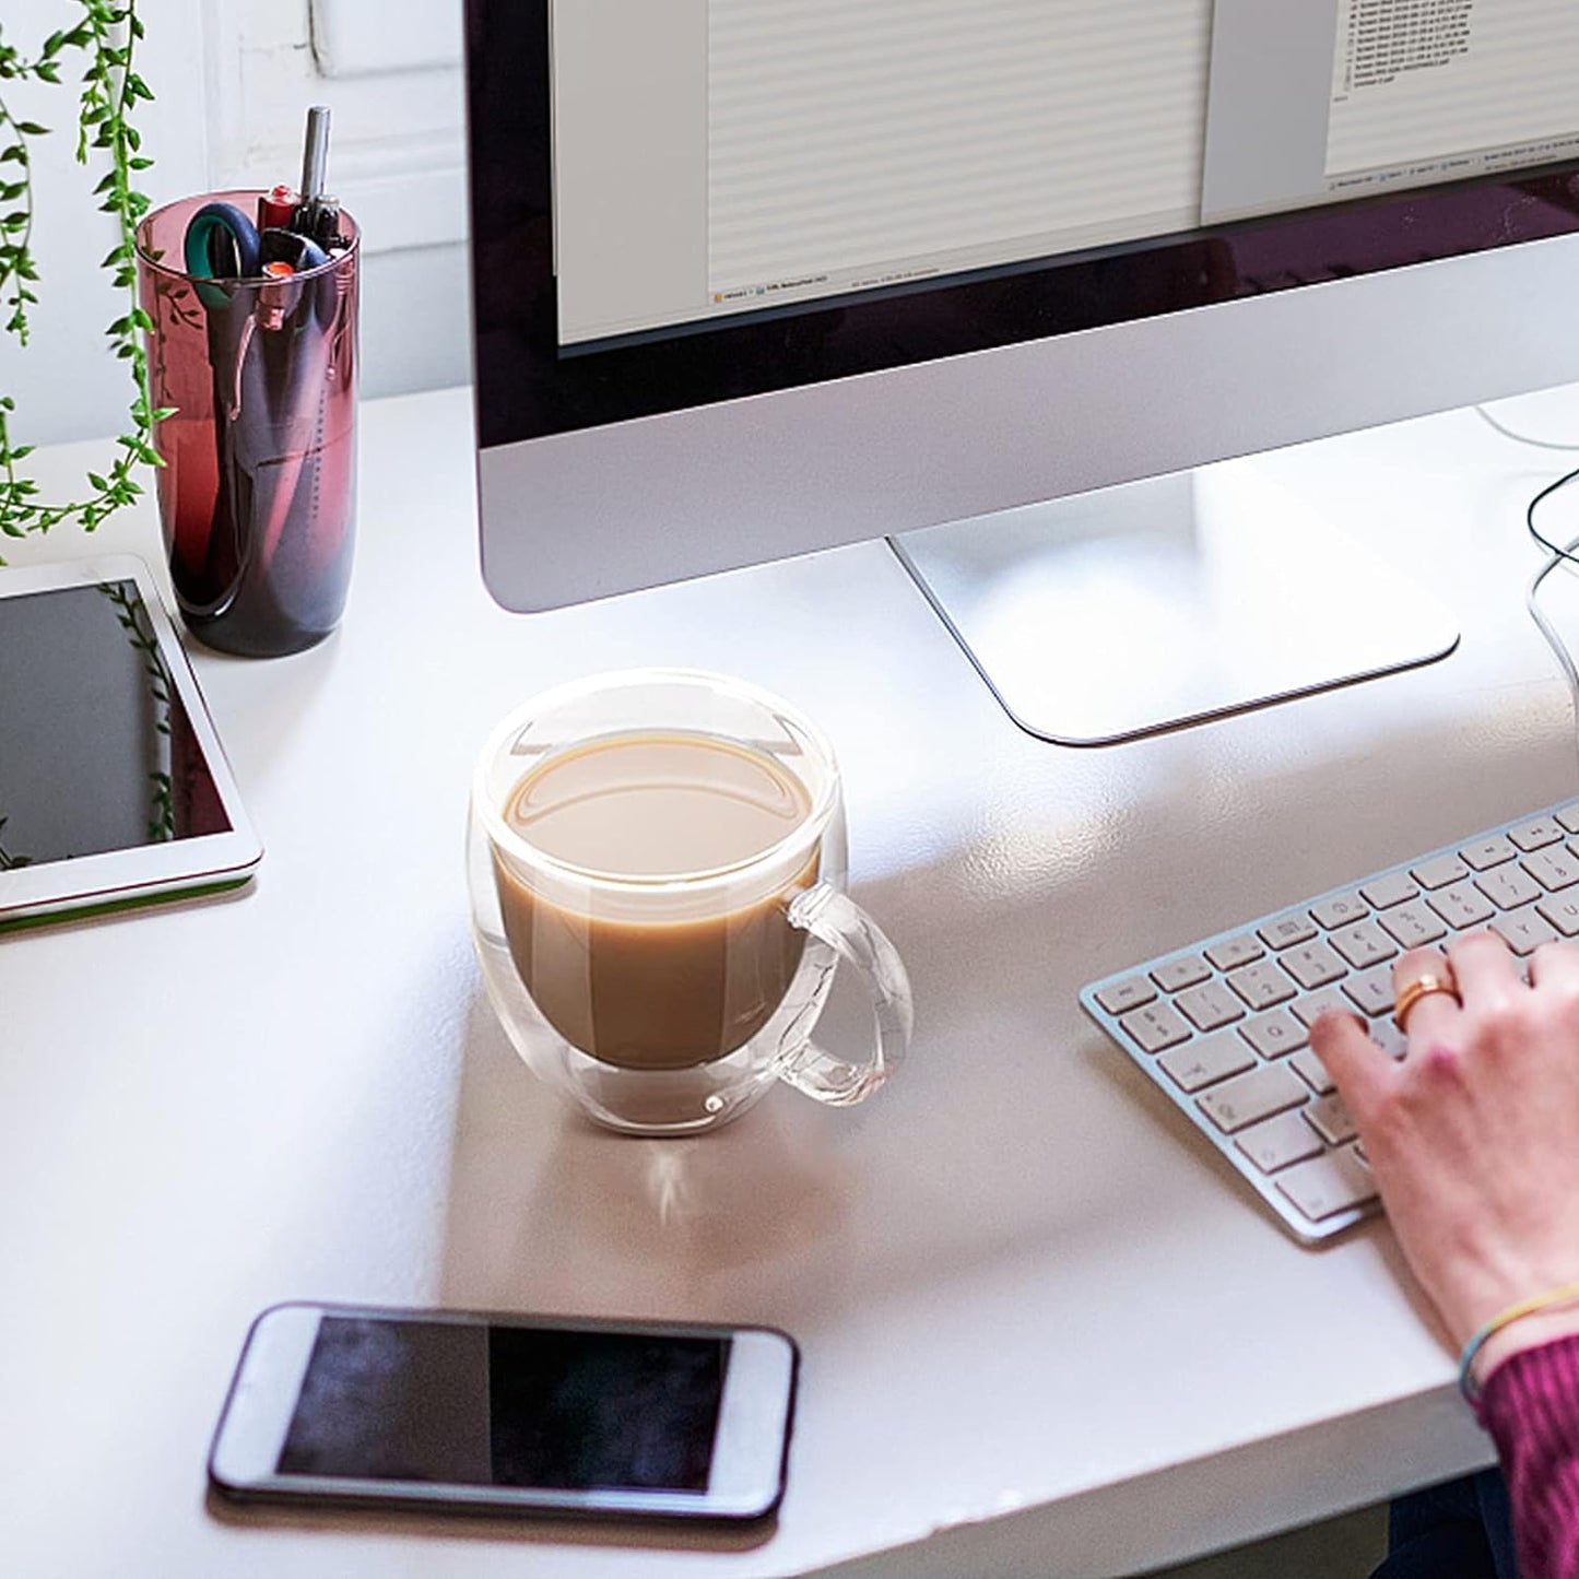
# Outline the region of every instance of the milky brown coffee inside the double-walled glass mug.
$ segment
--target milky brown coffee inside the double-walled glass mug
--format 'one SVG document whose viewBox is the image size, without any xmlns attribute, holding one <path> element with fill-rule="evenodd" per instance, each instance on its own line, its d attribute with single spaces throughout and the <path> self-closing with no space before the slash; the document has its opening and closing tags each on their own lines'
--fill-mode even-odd
<svg viewBox="0 0 1579 1579">
<path fill-rule="evenodd" d="M 703 734 L 633 733 L 531 769 L 505 824 L 553 861 L 609 880 L 698 878 L 750 864 L 810 815 L 772 756 Z M 496 854 L 510 957 L 572 1047 L 630 1069 L 682 1069 L 752 1039 L 783 1001 L 805 947 L 785 905 L 816 881 L 818 851 L 748 898 L 728 884 L 681 919 L 633 921 L 535 894 Z"/>
</svg>

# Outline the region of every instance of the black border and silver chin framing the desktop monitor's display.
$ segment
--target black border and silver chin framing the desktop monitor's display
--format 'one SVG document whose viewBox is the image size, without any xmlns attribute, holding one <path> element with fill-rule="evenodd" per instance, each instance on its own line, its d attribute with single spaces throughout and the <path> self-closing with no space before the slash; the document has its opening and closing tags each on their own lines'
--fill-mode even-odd
<svg viewBox="0 0 1579 1579">
<path fill-rule="evenodd" d="M 1221 292 L 1067 333 L 940 339 L 938 303 L 1003 287 L 973 281 L 561 355 L 548 14 L 549 0 L 467 0 L 480 549 L 507 609 L 562 608 L 1579 377 L 1579 314 L 1566 311 L 1579 218 L 1524 191 L 1522 177 L 1148 248 L 1187 281 L 1219 235 L 1244 251 L 1287 234 L 1307 251 L 1307 227 L 1336 216 L 1363 234 L 1383 226 L 1402 253 L 1371 272 L 1344 265 L 1298 289 Z M 512 17 L 513 32 L 502 27 Z M 1579 177 L 1532 178 L 1574 201 Z M 1427 257 L 1413 245 L 1423 205 L 1467 201 L 1468 251 Z M 1536 210 L 1543 223 L 1557 213 L 1562 234 L 1505 245 L 1533 237 L 1510 223 Z M 1473 249 L 1487 229 L 1497 245 Z M 1080 267 L 1123 275 L 1134 256 Z M 1276 251 L 1257 259 L 1277 273 Z M 895 351 L 900 321 L 919 338 Z M 829 358 L 831 327 L 868 322 L 887 347 L 876 365 Z"/>
</svg>

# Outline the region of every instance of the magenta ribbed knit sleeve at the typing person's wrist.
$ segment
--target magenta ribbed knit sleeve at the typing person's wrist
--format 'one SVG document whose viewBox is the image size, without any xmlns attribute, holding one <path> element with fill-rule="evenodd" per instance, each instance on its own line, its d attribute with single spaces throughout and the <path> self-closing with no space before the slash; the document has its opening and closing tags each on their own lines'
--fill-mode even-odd
<svg viewBox="0 0 1579 1579">
<path fill-rule="evenodd" d="M 1505 1360 L 1480 1416 L 1508 1481 L 1521 1579 L 1579 1579 L 1579 1334 Z"/>
</svg>

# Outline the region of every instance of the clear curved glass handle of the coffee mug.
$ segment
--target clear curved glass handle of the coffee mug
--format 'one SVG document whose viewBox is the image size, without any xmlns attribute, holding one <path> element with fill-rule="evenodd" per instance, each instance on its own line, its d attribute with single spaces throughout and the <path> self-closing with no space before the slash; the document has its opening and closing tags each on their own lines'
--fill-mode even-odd
<svg viewBox="0 0 1579 1579">
<path fill-rule="evenodd" d="M 778 1077 L 818 1102 L 850 1107 L 864 1102 L 894 1072 L 910 1047 L 916 1009 L 910 976 L 898 951 L 878 924 L 851 898 L 827 883 L 804 889 L 786 906 L 791 927 L 826 943 L 840 960 L 853 965 L 872 996 L 876 1045 L 864 1064 L 823 1052 L 807 1037 L 778 1066 Z"/>
</svg>

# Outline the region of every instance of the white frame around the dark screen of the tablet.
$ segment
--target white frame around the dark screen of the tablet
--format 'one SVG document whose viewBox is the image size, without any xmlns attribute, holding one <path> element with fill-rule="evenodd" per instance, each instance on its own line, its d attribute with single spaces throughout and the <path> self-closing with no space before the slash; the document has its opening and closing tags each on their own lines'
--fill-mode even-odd
<svg viewBox="0 0 1579 1579">
<path fill-rule="evenodd" d="M 0 572 L 0 598 L 92 587 L 107 581 L 131 581 L 137 587 L 164 668 L 191 720 L 193 737 L 231 827 L 223 834 L 199 834 L 0 872 L 0 932 L 81 917 L 84 913 L 122 910 L 156 898 L 237 887 L 253 875 L 264 854 L 242 807 L 240 791 L 197 688 L 197 677 L 164 613 L 148 567 L 141 559 L 133 554 L 106 554 L 66 564 L 11 567 Z"/>
</svg>

